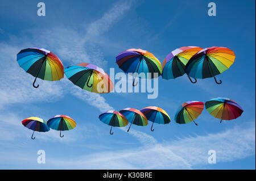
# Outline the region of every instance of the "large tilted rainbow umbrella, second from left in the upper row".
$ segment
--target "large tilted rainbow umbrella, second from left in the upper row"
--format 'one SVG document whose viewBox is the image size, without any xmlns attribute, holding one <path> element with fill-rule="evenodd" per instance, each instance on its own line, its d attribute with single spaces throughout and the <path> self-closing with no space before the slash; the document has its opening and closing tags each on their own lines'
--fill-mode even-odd
<svg viewBox="0 0 256 181">
<path fill-rule="evenodd" d="M 90 92 L 108 93 L 114 87 L 109 75 L 93 64 L 81 63 L 68 66 L 65 75 L 73 84 Z"/>
</svg>

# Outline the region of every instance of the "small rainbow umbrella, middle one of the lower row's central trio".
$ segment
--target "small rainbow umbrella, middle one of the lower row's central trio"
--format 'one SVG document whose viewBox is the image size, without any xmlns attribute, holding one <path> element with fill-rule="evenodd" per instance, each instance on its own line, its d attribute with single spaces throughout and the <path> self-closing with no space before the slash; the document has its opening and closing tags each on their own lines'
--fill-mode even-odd
<svg viewBox="0 0 256 181">
<path fill-rule="evenodd" d="M 134 108 L 125 108 L 119 112 L 122 113 L 122 115 L 125 116 L 128 122 L 130 122 L 131 124 L 143 127 L 148 124 L 147 117 L 139 110 L 136 110 Z M 127 132 L 129 132 L 131 124 Z"/>
</svg>

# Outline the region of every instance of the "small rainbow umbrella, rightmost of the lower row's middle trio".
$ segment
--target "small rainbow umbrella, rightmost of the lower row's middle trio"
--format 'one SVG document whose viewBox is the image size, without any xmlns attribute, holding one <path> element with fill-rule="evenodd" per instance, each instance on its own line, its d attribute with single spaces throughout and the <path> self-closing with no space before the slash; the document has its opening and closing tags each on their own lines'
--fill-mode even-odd
<svg viewBox="0 0 256 181">
<path fill-rule="evenodd" d="M 156 106 L 148 106 L 141 110 L 141 112 L 147 117 L 147 120 L 152 121 L 151 131 L 154 131 L 153 128 L 154 123 L 158 124 L 168 124 L 171 119 L 166 111 Z"/>
</svg>

